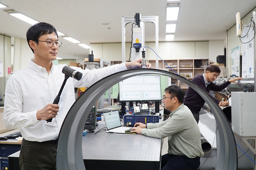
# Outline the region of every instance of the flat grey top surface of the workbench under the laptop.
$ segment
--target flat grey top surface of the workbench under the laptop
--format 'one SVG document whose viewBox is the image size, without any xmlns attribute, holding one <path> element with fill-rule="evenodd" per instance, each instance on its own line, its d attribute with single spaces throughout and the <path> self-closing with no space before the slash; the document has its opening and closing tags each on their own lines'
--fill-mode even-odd
<svg viewBox="0 0 256 170">
<path fill-rule="evenodd" d="M 160 161 L 161 139 L 140 134 L 88 133 L 82 138 L 84 160 Z"/>
</svg>

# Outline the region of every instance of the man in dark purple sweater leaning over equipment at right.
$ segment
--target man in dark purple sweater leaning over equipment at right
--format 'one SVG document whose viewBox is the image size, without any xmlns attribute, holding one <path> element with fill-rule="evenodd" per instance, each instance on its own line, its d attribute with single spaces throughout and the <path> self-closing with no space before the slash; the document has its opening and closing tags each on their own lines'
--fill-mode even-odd
<svg viewBox="0 0 256 170">
<path fill-rule="evenodd" d="M 209 65 L 206 68 L 205 74 L 195 76 L 192 81 L 200 86 L 202 89 L 204 89 L 207 93 L 212 91 L 221 91 L 224 88 L 226 88 L 231 82 L 236 82 L 236 80 L 242 79 L 241 77 L 235 77 L 234 79 L 229 79 L 228 81 L 224 82 L 223 84 L 217 86 L 213 83 L 213 81 L 219 76 L 219 73 L 221 70 L 217 65 Z M 229 103 L 227 101 L 218 101 L 216 98 L 213 98 L 214 101 L 219 106 L 228 106 Z M 188 88 L 188 91 L 186 93 L 186 96 L 184 98 L 184 105 L 188 106 L 188 108 L 193 113 L 193 116 L 196 119 L 196 122 L 199 122 L 199 112 L 201 108 L 203 107 L 203 104 L 205 101 L 203 98 L 191 87 Z"/>
</svg>

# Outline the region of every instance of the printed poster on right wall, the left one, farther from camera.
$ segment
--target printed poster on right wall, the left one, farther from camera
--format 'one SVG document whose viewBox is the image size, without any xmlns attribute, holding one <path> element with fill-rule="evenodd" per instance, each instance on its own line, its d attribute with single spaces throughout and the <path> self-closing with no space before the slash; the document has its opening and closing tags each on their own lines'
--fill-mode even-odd
<svg viewBox="0 0 256 170">
<path fill-rule="evenodd" d="M 231 50 L 231 74 L 240 76 L 240 46 Z"/>
</svg>

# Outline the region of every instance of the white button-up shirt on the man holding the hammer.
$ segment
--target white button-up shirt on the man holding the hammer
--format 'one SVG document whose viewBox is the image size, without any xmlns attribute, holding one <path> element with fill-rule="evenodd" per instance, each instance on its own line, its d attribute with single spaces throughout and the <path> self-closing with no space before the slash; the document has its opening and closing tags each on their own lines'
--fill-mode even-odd
<svg viewBox="0 0 256 170">
<path fill-rule="evenodd" d="M 64 66 L 52 64 L 48 74 L 45 68 L 35 64 L 32 59 L 28 67 L 9 77 L 5 88 L 5 127 L 20 129 L 22 136 L 28 141 L 57 139 L 63 120 L 75 101 L 74 88 L 91 86 L 105 76 L 126 70 L 125 63 L 93 70 L 71 67 L 82 73 L 82 79 L 67 80 L 58 103 L 58 115 L 52 122 L 37 120 L 37 111 L 53 103 L 58 95 L 65 78 L 65 74 L 62 73 Z"/>
</svg>

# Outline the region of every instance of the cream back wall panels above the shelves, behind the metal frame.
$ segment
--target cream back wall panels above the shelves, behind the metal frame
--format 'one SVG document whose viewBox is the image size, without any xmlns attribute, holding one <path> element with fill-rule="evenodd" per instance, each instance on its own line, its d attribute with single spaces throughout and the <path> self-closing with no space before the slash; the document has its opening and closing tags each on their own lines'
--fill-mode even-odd
<svg viewBox="0 0 256 170">
<path fill-rule="evenodd" d="M 130 54 L 130 43 L 126 43 L 126 60 Z M 155 43 L 145 43 L 155 50 Z M 121 43 L 97 43 L 91 44 L 94 58 L 104 58 L 110 61 L 122 60 Z M 155 60 L 155 53 L 149 48 L 145 48 L 147 60 Z M 184 59 L 184 58 L 209 58 L 210 62 L 216 62 L 218 55 L 224 55 L 224 40 L 211 41 L 186 41 L 186 42 L 160 42 L 158 55 L 163 60 Z M 159 59 L 160 60 L 160 59 Z"/>
</svg>

